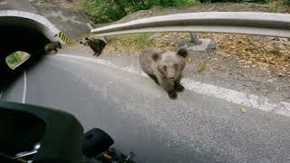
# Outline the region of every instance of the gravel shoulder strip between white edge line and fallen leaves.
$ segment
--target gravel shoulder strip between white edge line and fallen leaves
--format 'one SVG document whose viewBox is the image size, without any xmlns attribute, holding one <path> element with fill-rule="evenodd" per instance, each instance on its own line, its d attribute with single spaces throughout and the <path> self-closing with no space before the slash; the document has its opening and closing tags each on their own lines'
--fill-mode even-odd
<svg viewBox="0 0 290 163">
<path fill-rule="evenodd" d="M 63 48 L 59 53 L 92 57 L 92 50 L 78 43 Z M 267 72 L 261 72 L 257 67 L 244 68 L 237 60 L 230 56 L 219 55 L 215 51 L 195 53 L 195 55 L 199 57 L 190 62 L 188 60 L 184 72 L 185 76 L 193 81 L 255 94 L 273 101 L 290 102 L 288 78 L 275 77 L 273 81 L 267 81 L 266 79 L 270 79 Z M 126 65 L 139 66 L 138 54 L 102 53 L 98 58 L 107 61 L 122 60 Z M 202 72 L 198 72 L 201 65 L 205 65 L 205 68 Z"/>
</svg>

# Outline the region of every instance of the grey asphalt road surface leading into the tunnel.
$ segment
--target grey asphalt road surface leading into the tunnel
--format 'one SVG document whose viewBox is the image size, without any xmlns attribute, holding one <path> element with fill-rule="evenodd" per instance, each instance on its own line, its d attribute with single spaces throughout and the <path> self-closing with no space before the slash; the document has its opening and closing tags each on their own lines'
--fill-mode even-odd
<svg viewBox="0 0 290 163">
<path fill-rule="evenodd" d="M 169 100 L 149 78 L 57 56 L 5 91 L 6 101 L 66 110 L 138 162 L 290 162 L 290 119 L 193 91 Z M 25 94 L 25 98 L 19 97 Z"/>
</svg>

